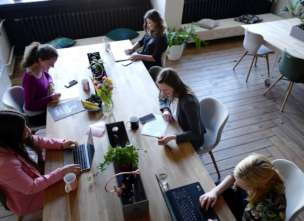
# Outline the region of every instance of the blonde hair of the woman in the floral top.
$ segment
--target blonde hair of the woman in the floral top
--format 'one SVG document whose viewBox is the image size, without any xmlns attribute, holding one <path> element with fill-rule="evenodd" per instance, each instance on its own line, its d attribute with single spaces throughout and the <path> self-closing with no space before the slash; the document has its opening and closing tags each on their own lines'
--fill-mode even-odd
<svg viewBox="0 0 304 221">
<path fill-rule="evenodd" d="M 270 192 L 278 194 L 285 192 L 284 179 L 264 155 L 252 154 L 246 157 L 236 165 L 234 175 L 254 188 L 249 191 L 247 197 L 248 209 L 251 209 L 255 202 L 264 199 Z"/>
</svg>

